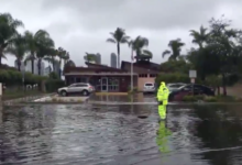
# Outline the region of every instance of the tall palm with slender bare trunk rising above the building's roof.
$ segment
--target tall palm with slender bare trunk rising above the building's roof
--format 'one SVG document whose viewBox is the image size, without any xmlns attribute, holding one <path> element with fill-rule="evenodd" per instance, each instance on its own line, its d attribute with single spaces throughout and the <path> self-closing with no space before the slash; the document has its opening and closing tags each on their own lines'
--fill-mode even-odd
<svg viewBox="0 0 242 165">
<path fill-rule="evenodd" d="M 120 44 L 125 44 L 129 42 L 129 36 L 125 35 L 125 31 L 123 29 L 117 28 L 114 32 L 110 32 L 111 37 L 107 40 L 107 42 L 117 44 L 117 53 L 118 53 L 118 68 L 120 68 Z"/>
</svg>

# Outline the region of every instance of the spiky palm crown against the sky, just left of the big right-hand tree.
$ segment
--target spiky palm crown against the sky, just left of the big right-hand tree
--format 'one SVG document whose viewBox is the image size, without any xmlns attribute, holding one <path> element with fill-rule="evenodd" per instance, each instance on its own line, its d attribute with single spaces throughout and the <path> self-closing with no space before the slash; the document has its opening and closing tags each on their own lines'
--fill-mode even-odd
<svg viewBox="0 0 242 165">
<path fill-rule="evenodd" d="M 202 48 L 204 44 L 208 41 L 210 33 L 207 33 L 207 29 L 201 25 L 199 32 L 190 30 L 190 36 L 194 37 L 193 43 L 197 44 L 199 48 Z"/>
</svg>

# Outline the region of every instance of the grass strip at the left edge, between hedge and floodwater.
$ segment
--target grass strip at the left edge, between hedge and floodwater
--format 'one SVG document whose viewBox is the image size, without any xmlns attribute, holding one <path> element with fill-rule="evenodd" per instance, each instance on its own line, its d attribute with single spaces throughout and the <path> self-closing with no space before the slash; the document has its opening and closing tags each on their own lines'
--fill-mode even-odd
<svg viewBox="0 0 242 165">
<path fill-rule="evenodd" d="M 37 96 L 45 92 L 42 92 L 40 90 L 26 90 L 25 92 L 23 90 L 6 90 L 2 94 L 2 100 L 12 100 L 12 99 L 19 99 L 24 98 L 29 96 Z"/>
</svg>

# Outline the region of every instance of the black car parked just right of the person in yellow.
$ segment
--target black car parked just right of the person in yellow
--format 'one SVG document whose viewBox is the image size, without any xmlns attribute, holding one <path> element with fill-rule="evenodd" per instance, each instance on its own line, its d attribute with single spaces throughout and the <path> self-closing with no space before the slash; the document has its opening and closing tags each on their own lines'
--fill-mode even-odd
<svg viewBox="0 0 242 165">
<path fill-rule="evenodd" d="M 182 101 L 187 95 L 206 95 L 215 96 L 215 90 L 204 85 L 185 85 L 169 94 L 169 101 Z"/>
</svg>

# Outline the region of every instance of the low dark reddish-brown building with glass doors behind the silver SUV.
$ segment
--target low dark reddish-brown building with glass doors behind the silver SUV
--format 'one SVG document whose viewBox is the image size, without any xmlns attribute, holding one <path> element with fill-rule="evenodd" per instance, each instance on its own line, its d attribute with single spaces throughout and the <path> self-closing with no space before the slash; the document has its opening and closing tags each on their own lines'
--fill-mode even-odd
<svg viewBox="0 0 242 165">
<path fill-rule="evenodd" d="M 130 90 L 130 72 L 92 63 L 86 65 L 87 67 L 66 67 L 64 70 L 66 84 L 90 82 L 96 91 L 106 92 Z M 133 74 L 133 85 L 134 87 L 138 85 L 138 74 Z"/>
</svg>

